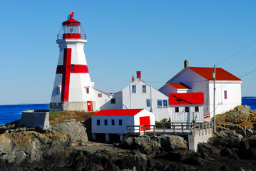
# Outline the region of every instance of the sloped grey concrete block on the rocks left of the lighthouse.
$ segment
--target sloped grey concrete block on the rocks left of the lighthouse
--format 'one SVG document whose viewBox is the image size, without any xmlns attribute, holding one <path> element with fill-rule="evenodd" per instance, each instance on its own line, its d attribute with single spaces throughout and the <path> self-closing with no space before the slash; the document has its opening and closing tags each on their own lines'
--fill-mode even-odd
<svg viewBox="0 0 256 171">
<path fill-rule="evenodd" d="M 27 110 L 24 111 L 19 120 L 19 125 L 26 127 L 39 127 L 43 130 L 50 128 L 48 110 Z"/>
</svg>

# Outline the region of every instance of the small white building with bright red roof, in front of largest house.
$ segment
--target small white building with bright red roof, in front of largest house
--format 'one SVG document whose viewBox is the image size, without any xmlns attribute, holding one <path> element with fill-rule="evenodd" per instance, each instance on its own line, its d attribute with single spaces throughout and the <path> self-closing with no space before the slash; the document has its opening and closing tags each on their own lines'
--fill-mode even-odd
<svg viewBox="0 0 256 171">
<path fill-rule="evenodd" d="M 203 93 L 170 93 L 170 121 L 172 123 L 203 122 Z"/>
</svg>

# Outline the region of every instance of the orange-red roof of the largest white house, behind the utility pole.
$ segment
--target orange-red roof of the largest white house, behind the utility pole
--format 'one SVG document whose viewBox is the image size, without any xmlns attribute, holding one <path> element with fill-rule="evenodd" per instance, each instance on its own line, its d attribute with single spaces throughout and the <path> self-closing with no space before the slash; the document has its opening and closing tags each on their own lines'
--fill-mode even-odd
<svg viewBox="0 0 256 171">
<path fill-rule="evenodd" d="M 198 73 L 203 78 L 207 79 L 208 81 L 213 81 L 213 72 L 214 68 L 205 68 L 205 67 L 187 67 L 190 70 Z M 231 73 L 225 71 L 222 68 L 216 68 L 216 81 L 242 81 L 240 78 L 232 75 Z"/>
</svg>

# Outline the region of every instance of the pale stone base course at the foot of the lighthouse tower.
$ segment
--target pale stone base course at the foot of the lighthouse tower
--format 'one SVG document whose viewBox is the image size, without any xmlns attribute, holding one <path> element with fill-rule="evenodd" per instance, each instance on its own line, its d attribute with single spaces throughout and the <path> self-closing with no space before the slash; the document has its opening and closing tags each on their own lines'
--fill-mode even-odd
<svg viewBox="0 0 256 171">
<path fill-rule="evenodd" d="M 95 109 L 95 102 L 92 103 L 92 111 Z M 58 111 L 88 111 L 87 102 L 51 102 L 50 103 L 50 111 L 58 112 Z"/>
</svg>

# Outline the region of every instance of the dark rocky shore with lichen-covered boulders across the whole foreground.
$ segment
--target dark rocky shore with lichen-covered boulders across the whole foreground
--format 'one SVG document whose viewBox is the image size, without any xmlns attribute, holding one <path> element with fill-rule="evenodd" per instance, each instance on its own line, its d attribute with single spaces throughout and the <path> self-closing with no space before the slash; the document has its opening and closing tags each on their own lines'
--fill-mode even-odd
<svg viewBox="0 0 256 171">
<path fill-rule="evenodd" d="M 256 170 L 256 111 L 240 106 L 217 115 L 217 133 L 198 152 L 175 135 L 91 142 L 86 122 L 49 130 L 0 126 L 0 170 Z"/>
</svg>

